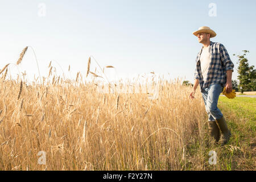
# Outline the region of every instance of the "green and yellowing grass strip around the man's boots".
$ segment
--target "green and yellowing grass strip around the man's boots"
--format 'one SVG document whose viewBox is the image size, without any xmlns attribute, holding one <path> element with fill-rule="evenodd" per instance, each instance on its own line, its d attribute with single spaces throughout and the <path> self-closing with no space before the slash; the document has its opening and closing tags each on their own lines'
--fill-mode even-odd
<svg viewBox="0 0 256 182">
<path fill-rule="evenodd" d="M 220 97 L 218 108 L 222 111 L 232 132 L 226 146 L 209 139 L 208 126 L 203 138 L 196 137 L 187 145 L 188 159 L 185 170 L 255 170 L 256 169 L 256 98 Z M 205 113 L 206 114 L 206 113 Z M 208 163 L 208 153 L 217 153 L 217 164 Z"/>
</svg>

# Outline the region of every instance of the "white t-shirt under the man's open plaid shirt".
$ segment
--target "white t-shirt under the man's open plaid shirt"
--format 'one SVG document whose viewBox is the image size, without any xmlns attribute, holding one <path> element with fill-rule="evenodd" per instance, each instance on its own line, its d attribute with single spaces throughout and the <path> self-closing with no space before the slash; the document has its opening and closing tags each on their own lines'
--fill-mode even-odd
<svg viewBox="0 0 256 182">
<path fill-rule="evenodd" d="M 201 72 L 202 72 L 203 80 L 206 81 L 207 73 L 210 65 L 209 47 L 203 48 L 200 56 L 200 64 L 201 64 Z"/>
</svg>

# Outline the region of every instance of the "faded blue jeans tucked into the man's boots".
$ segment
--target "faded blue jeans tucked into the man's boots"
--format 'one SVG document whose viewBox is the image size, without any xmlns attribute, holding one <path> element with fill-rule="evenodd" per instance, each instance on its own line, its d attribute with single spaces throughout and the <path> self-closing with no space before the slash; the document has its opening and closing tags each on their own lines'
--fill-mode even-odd
<svg viewBox="0 0 256 182">
<path fill-rule="evenodd" d="M 221 84 L 212 84 L 208 88 L 202 90 L 202 96 L 204 98 L 205 110 L 208 114 L 208 121 L 215 121 L 223 117 L 220 109 L 218 109 L 218 97 L 223 90 Z"/>
</svg>

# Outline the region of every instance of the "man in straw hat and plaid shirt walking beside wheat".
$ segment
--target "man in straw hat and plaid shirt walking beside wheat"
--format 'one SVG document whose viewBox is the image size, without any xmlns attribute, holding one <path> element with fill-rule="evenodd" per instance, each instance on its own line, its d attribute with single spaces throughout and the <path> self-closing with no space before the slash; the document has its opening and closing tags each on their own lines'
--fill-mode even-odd
<svg viewBox="0 0 256 182">
<path fill-rule="evenodd" d="M 197 36 L 203 47 L 196 57 L 195 84 L 189 97 L 195 98 L 196 88 L 200 84 L 205 110 L 208 114 L 210 135 L 218 142 L 221 130 L 222 144 L 226 144 L 231 133 L 217 104 L 224 86 L 227 93 L 232 92 L 234 64 L 222 44 L 210 41 L 216 33 L 209 27 L 200 27 L 199 30 L 193 32 L 193 35 Z"/>
</svg>

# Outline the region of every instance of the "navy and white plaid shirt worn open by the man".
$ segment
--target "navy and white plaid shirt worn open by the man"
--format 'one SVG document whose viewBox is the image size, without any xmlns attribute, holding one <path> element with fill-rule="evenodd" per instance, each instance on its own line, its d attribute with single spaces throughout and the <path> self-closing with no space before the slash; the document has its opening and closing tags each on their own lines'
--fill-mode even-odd
<svg viewBox="0 0 256 182">
<path fill-rule="evenodd" d="M 195 79 L 199 79 L 201 92 L 203 88 L 207 88 L 211 84 L 222 84 L 222 86 L 225 86 L 224 84 L 226 84 L 226 71 L 232 70 L 232 72 L 234 72 L 234 64 L 229 58 L 228 51 L 226 51 L 226 48 L 221 43 L 210 41 L 209 53 L 211 61 L 206 81 L 204 81 L 200 66 L 200 55 L 202 50 L 203 47 L 197 54 L 196 69 L 194 74 Z"/>
</svg>

